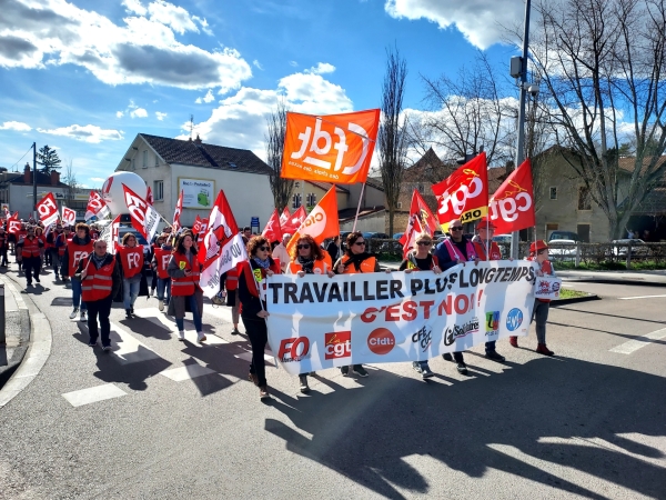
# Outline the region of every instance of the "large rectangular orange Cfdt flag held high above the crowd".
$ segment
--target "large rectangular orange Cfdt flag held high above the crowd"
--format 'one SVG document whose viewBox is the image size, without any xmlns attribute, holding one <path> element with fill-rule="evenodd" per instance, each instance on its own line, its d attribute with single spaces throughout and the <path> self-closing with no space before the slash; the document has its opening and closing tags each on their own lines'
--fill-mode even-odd
<svg viewBox="0 0 666 500">
<path fill-rule="evenodd" d="M 379 128 L 379 109 L 325 117 L 287 112 L 281 177 L 365 182 Z"/>
</svg>

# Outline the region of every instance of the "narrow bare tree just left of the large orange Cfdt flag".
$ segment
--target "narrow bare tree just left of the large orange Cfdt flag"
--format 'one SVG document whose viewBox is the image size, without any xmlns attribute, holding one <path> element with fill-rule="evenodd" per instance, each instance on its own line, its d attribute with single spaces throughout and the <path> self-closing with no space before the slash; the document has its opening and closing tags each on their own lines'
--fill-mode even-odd
<svg viewBox="0 0 666 500">
<path fill-rule="evenodd" d="M 280 177 L 282 172 L 282 154 L 284 152 L 284 134 L 286 133 L 286 106 L 278 102 L 275 109 L 266 118 L 269 131 L 265 136 L 266 163 L 273 171 L 270 176 L 273 202 L 280 213 L 291 199 L 294 181 Z"/>
</svg>

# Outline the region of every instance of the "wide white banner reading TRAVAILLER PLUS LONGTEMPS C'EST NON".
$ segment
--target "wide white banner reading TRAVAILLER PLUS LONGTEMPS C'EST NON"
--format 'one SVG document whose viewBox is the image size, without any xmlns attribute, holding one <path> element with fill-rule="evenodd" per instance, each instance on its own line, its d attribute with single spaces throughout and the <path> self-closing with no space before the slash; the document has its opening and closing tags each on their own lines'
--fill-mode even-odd
<svg viewBox="0 0 666 500">
<path fill-rule="evenodd" d="M 435 274 L 268 278 L 269 342 L 291 374 L 355 363 L 425 361 L 526 336 L 533 262 L 460 264 Z"/>
</svg>

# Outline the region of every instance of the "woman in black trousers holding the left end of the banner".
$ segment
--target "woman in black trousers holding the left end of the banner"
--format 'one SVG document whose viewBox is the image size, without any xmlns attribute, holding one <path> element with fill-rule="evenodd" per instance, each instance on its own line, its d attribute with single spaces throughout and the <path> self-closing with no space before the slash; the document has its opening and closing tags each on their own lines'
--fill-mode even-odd
<svg viewBox="0 0 666 500">
<path fill-rule="evenodd" d="M 264 361 L 264 349 L 269 341 L 264 286 L 266 277 L 280 274 L 280 266 L 271 258 L 270 251 L 269 240 L 263 236 L 255 236 L 248 243 L 250 260 L 241 262 L 238 267 L 241 318 L 252 344 L 249 378 L 259 387 L 261 399 L 270 398 Z"/>
</svg>

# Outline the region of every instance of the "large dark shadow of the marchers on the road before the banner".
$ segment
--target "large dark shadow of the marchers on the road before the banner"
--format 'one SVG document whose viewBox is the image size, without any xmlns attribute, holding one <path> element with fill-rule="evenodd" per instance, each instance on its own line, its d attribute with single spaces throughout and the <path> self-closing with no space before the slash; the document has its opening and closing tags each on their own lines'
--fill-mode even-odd
<svg viewBox="0 0 666 500">
<path fill-rule="evenodd" d="M 327 380 L 334 392 L 307 398 L 272 390 L 274 408 L 312 439 L 279 420 L 266 419 L 265 429 L 284 439 L 287 450 L 387 498 L 404 498 L 394 484 L 428 492 L 426 478 L 405 460 L 411 456 L 438 460 L 442 474 L 448 468 L 478 478 L 496 469 L 587 498 L 603 497 L 567 481 L 571 473 L 554 476 L 538 464 L 655 498 L 666 492 L 665 470 L 646 461 L 664 454 L 620 436 L 666 434 L 660 377 L 542 358 L 453 386 L 386 371 L 373 371 L 363 382 L 344 389 Z"/>
</svg>

